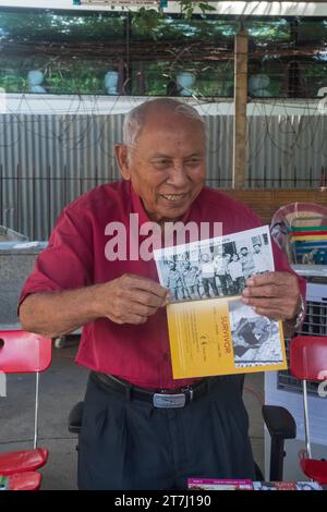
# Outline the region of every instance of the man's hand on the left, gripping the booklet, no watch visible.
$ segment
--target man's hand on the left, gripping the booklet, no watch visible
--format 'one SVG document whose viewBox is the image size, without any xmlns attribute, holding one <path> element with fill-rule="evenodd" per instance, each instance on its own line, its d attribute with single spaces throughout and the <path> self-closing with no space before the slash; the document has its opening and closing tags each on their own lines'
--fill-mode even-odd
<svg viewBox="0 0 327 512">
<path fill-rule="evenodd" d="M 116 324 L 144 324 L 169 302 L 169 291 L 152 279 L 124 273 L 98 285 L 100 316 Z"/>
</svg>

